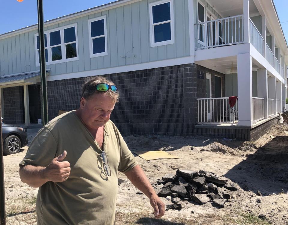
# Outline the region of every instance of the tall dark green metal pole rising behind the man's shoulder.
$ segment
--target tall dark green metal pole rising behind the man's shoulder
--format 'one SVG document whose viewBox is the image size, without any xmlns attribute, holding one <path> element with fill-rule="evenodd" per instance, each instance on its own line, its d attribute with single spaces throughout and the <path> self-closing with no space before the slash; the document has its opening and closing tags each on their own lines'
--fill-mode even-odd
<svg viewBox="0 0 288 225">
<path fill-rule="evenodd" d="M 38 6 L 38 34 L 40 43 L 40 76 L 43 100 L 42 123 L 48 123 L 48 103 L 47 103 L 47 86 L 46 86 L 46 65 L 45 65 L 45 39 L 44 39 L 44 19 L 43 19 L 43 0 L 37 0 Z"/>
</svg>

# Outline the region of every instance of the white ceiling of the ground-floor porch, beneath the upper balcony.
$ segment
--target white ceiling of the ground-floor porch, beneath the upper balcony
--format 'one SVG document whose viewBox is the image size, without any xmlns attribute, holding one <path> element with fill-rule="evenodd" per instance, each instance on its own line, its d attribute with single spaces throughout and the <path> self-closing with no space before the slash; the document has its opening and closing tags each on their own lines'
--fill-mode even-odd
<svg viewBox="0 0 288 225">
<path fill-rule="evenodd" d="M 237 56 L 225 57 L 225 58 L 216 58 L 209 59 L 205 61 L 197 61 L 196 64 L 202 64 L 207 67 L 207 64 L 210 65 L 211 70 L 216 70 L 220 73 L 237 73 Z M 252 69 L 259 68 L 252 60 Z"/>
</svg>

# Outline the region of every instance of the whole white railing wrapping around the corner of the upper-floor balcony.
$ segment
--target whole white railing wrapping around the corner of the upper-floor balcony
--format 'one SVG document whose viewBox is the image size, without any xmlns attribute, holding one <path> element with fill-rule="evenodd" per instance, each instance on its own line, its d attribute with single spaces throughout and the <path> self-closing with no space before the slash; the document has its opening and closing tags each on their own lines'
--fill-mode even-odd
<svg viewBox="0 0 288 225">
<path fill-rule="evenodd" d="M 196 50 L 217 48 L 244 43 L 243 15 L 230 16 L 195 24 Z M 280 64 L 274 51 L 265 43 L 260 31 L 249 18 L 250 43 L 271 64 L 272 67 L 286 80 L 284 65 Z M 274 50 L 274 49 L 273 49 Z M 282 60 L 281 60 L 282 63 Z"/>
</svg>

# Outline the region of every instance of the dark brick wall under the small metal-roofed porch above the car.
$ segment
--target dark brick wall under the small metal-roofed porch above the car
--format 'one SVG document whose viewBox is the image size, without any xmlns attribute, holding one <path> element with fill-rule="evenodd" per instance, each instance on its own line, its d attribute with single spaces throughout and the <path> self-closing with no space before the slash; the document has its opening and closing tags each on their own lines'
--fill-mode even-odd
<svg viewBox="0 0 288 225">
<path fill-rule="evenodd" d="M 3 88 L 5 123 L 25 123 L 23 95 L 23 86 Z"/>
</svg>

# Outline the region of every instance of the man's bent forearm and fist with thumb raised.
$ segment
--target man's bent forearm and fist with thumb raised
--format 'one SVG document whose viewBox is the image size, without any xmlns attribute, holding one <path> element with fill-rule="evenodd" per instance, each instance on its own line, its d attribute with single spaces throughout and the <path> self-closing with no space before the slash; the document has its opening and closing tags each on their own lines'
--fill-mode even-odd
<svg viewBox="0 0 288 225">
<path fill-rule="evenodd" d="M 48 181 L 63 182 L 70 175 L 70 163 L 62 160 L 66 157 L 67 152 L 54 158 L 47 167 L 26 165 L 19 169 L 20 179 L 23 183 L 33 188 L 38 188 Z"/>
</svg>

